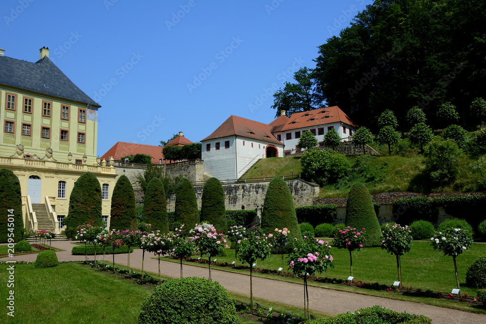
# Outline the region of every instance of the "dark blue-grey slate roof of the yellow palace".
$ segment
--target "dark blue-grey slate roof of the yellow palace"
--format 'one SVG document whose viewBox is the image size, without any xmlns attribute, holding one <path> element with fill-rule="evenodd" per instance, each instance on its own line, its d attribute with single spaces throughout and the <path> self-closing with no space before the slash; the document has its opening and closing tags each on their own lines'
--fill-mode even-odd
<svg viewBox="0 0 486 324">
<path fill-rule="evenodd" d="M 0 56 L 0 85 L 81 102 L 94 108 L 101 107 L 100 104 L 72 83 L 47 56 L 35 63 Z"/>
</svg>

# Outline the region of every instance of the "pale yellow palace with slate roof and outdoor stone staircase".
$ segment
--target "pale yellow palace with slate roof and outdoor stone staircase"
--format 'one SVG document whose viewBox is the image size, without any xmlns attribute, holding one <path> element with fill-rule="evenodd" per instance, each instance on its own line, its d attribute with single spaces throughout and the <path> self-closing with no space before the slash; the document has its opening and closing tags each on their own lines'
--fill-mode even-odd
<svg viewBox="0 0 486 324">
<path fill-rule="evenodd" d="M 87 171 L 100 181 L 108 226 L 116 172 L 96 158 L 101 106 L 52 63 L 48 48 L 35 63 L 4 53 L 0 49 L 0 168 L 20 180 L 24 227 L 62 232 L 74 182 Z"/>
</svg>

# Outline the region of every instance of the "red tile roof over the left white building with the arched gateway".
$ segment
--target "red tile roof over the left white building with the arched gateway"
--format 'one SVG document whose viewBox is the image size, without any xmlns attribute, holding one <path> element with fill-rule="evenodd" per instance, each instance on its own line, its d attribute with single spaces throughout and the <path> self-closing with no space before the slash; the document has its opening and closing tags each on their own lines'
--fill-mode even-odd
<svg viewBox="0 0 486 324">
<path fill-rule="evenodd" d="M 233 115 L 202 141 L 235 135 L 283 145 L 272 134 L 272 126 Z"/>
</svg>

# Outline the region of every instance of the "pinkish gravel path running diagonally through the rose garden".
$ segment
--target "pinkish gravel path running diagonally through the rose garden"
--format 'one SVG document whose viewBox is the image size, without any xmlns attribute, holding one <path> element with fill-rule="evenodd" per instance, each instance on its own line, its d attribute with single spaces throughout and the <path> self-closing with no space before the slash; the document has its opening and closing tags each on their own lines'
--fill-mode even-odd
<svg viewBox="0 0 486 324">
<path fill-rule="evenodd" d="M 56 252 L 59 261 L 84 260 L 84 256 L 71 255 L 71 249 L 74 246 L 70 241 L 55 241 L 52 246 L 66 251 Z M 15 256 L 13 258 L 0 258 L 0 261 L 35 261 L 37 254 Z M 153 255 L 145 255 L 144 270 L 158 273 L 158 263 L 152 259 Z M 103 256 L 97 256 L 101 259 Z M 93 259 L 93 256 L 88 256 Z M 107 255 L 107 260 L 112 256 Z M 142 261 L 142 251 L 137 249 L 130 256 L 130 266 L 140 268 Z M 115 262 L 126 265 L 126 255 L 115 255 Z M 183 266 L 184 276 L 208 277 L 208 269 L 194 267 L 190 265 Z M 180 276 L 180 265 L 178 263 L 161 261 L 160 273 L 171 276 Z M 218 281 L 227 290 L 250 294 L 250 277 L 249 275 L 239 273 L 229 273 L 225 271 L 211 270 L 211 277 Z M 253 296 L 263 298 L 279 303 L 303 307 L 303 285 L 282 282 L 278 280 L 253 278 Z M 473 314 L 461 310 L 454 310 L 443 307 L 430 306 L 414 302 L 405 302 L 394 299 L 360 295 L 352 292 L 330 290 L 325 288 L 309 287 L 310 308 L 329 314 L 345 313 L 354 311 L 363 307 L 372 307 L 379 305 L 390 308 L 399 312 L 406 311 L 412 314 L 421 314 L 432 318 L 434 324 L 451 323 L 451 324 L 485 324 L 486 315 Z"/>
</svg>

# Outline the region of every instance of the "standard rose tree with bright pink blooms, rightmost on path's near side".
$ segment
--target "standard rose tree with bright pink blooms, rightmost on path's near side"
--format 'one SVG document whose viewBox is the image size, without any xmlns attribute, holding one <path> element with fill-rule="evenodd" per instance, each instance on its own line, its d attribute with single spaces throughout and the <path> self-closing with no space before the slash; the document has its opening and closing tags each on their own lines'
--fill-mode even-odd
<svg viewBox="0 0 486 324">
<path fill-rule="evenodd" d="M 309 318 L 309 291 L 307 276 L 322 273 L 333 268 L 330 246 L 323 240 L 306 238 L 303 241 L 294 240 L 293 250 L 289 254 L 289 268 L 299 277 L 304 278 L 304 317 Z"/>
</svg>

